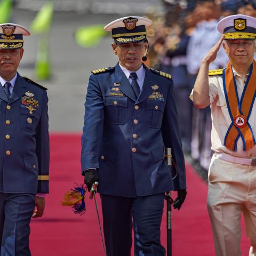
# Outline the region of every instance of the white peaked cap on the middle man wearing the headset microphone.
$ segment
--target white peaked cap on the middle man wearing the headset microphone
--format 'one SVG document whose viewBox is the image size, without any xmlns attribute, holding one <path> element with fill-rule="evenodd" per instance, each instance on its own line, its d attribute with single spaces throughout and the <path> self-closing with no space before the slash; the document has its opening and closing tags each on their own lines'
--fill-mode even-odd
<svg viewBox="0 0 256 256">
<path fill-rule="evenodd" d="M 124 17 L 110 22 L 104 27 L 106 31 L 112 31 L 115 43 L 135 43 L 146 41 L 146 26 L 153 22 L 144 17 Z"/>
</svg>

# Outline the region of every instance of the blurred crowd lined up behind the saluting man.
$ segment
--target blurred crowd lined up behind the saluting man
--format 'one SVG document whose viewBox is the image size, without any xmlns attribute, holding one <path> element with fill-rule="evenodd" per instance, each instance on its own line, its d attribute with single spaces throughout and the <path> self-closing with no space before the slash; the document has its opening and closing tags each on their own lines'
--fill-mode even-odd
<svg viewBox="0 0 256 256">
<path fill-rule="evenodd" d="M 148 66 L 172 75 L 179 113 L 183 151 L 203 171 L 209 168 L 211 156 L 210 107 L 196 109 L 189 95 L 204 55 L 221 35 L 218 21 L 228 15 L 256 17 L 255 0 L 163 1 L 165 15 L 147 16 L 154 21 L 149 34 Z M 225 68 L 228 58 L 223 48 L 210 69 Z"/>
</svg>

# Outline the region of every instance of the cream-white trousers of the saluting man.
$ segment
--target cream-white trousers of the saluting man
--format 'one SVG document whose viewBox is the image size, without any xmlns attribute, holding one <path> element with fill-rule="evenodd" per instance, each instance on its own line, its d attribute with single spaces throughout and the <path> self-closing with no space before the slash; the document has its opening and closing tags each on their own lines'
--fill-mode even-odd
<svg viewBox="0 0 256 256">
<path fill-rule="evenodd" d="M 212 156 L 209 168 L 207 209 L 216 256 L 239 256 L 241 213 L 256 256 L 256 166 L 234 164 Z"/>
</svg>

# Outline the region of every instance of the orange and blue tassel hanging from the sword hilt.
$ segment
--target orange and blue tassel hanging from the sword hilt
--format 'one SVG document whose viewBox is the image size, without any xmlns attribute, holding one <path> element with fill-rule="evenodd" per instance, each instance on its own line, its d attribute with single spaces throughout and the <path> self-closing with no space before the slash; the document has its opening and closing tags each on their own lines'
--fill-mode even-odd
<svg viewBox="0 0 256 256">
<path fill-rule="evenodd" d="M 74 187 L 63 196 L 61 204 L 71 206 L 74 213 L 83 215 L 86 211 L 84 202 L 86 188 L 84 183 L 80 186 L 76 184 L 76 186 L 77 187 Z"/>
</svg>

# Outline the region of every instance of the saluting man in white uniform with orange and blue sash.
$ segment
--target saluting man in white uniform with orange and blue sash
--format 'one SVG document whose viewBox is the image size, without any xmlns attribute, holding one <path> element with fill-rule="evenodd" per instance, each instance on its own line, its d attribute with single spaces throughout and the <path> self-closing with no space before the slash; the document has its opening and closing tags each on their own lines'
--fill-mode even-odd
<svg viewBox="0 0 256 256">
<path fill-rule="evenodd" d="M 202 60 L 190 95 L 197 108 L 211 106 L 215 153 L 209 168 L 207 207 L 215 255 L 241 255 L 242 212 L 251 242 L 249 255 L 256 255 L 256 19 L 231 15 L 217 29 L 222 38 Z M 229 63 L 224 69 L 209 71 L 221 44 Z"/>
</svg>

